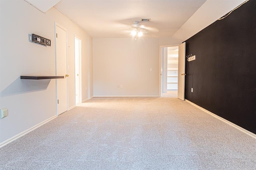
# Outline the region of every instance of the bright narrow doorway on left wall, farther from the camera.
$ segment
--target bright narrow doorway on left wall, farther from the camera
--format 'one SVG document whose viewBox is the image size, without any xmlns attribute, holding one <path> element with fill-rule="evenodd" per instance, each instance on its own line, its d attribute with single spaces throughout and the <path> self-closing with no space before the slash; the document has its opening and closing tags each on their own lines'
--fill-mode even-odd
<svg viewBox="0 0 256 170">
<path fill-rule="evenodd" d="M 81 81 L 81 45 L 82 40 L 75 35 L 75 79 L 76 79 L 76 105 L 82 103 Z"/>
</svg>

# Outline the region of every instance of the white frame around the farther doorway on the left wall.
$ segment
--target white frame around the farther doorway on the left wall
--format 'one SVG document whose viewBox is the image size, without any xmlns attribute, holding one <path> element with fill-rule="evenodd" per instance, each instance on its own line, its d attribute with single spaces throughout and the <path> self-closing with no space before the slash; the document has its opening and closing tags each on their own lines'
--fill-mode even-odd
<svg viewBox="0 0 256 170">
<path fill-rule="evenodd" d="M 76 77 L 76 39 L 79 40 L 79 63 L 78 63 L 78 67 L 79 67 L 79 84 L 78 84 L 78 89 L 79 89 L 79 99 L 78 99 L 78 103 L 82 103 L 82 38 L 80 38 L 79 36 L 77 36 L 76 34 L 74 34 L 74 57 L 75 57 L 75 77 Z M 75 78 L 75 82 L 76 82 L 76 78 Z M 76 86 L 75 85 L 75 93 L 76 93 Z M 76 98 L 76 94 L 75 94 L 75 98 Z M 76 101 L 76 100 L 75 100 Z M 76 101 L 77 104 L 77 101 Z"/>
</svg>

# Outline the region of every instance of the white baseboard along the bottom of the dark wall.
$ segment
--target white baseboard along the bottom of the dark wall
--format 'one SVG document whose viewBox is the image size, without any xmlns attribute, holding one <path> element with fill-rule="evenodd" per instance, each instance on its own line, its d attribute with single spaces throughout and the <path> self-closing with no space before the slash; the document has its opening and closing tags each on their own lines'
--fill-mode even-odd
<svg viewBox="0 0 256 170">
<path fill-rule="evenodd" d="M 244 133 L 248 134 L 249 136 L 251 136 L 251 137 L 256 139 L 256 134 L 250 132 L 249 130 L 246 130 L 246 129 L 244 129 L 244 128 L 242 128 L 242 127 L 240 127 L 240 126 L 238 126 L 238 125 L 236 125 L 236 124 L 234 124 L 234 123 L 232 123 L 232 122 L 230 122 L 230 121 L 228 121 L 228 120 L 226 120 L 226 119 L 224 119 L 224 118 L 222 118 L 222 117 L 220 117 L 218 115 L 215 115 L 214 113 L 212 113 L 212 112 L 210 112 L 210 111 L 208 111 L 208 110 L 206 110 L 206 109 L 196 105 L 195 103 L 192 103 L 191 101 L 186 100 L 186 102 L 190 103 L 191 105 L 201 109 L 202 111 L 208 113 L 209 115 L 212 115 L 213 117 L 215 117 L 215 118 L 217 118 L 217 119 L 227 123 L 228 125 L 230 125 L 230 126 L 232 126 L 234 128 L 237 128 L 238 130 L 240 130 L 240 131 L 242 131 L 242 132 L 244 132 Z"/>
</svg>

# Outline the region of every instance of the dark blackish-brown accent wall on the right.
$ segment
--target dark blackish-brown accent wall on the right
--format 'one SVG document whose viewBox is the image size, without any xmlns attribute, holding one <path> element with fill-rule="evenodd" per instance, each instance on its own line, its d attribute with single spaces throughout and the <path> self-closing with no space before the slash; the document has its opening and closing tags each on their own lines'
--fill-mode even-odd
<svg viewBox="0 0 256 170">
<path fill-rule="evenodd" d="M 256 0 L 185 42 L 185 98 L 256 134 Z"/>
</svg>

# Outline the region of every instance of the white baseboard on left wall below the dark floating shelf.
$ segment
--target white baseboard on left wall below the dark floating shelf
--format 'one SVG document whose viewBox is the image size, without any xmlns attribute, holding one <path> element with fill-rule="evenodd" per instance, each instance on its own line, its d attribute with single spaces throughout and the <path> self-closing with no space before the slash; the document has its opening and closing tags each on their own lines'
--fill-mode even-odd
<svg viewBox="0 0 256 170">
<path fill-rule="evenodd" d="M 9 138 L 9 139 L 5 140 L 4 142 L 1 142 L 1 143 L 0 143 L 0 148 L 3 147 L 3 146 L 5 146 L 6 144 L 12 142 L 12 141 L 14 141 L 14 140 L 16 140 L 16 139 L 18 139 L 18 138 L 24 136 L 25 134 L 28 134 L 29 132 L 35 130 L 36 128 L 39 128 L 40 126 L 42 126 L 42 125 L 44 125 L 44 124 L 46 124 L 46 123 L 52 121 L 52 120 L 55 119 L 56 117 L 57 117 L 57 115 L 55 115 L 55 116 L 53 116 L 53 117 L 50 117 L 49 119 L 46 119 L 45 121 L 43 121 L 43 122 L 41 122 L 41 123 L 39 123 L 39 124 L 37 124 L 37 125 L 35 125 L 35 126 L 29 128 L 29 129 L 25 130 L 25 131 L 23 131 L 23 132 L 20 132 L 19 134 L 13 136 L 12 138 Z"/>
</svg>

